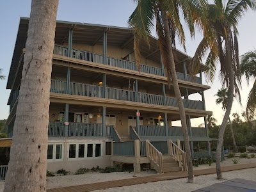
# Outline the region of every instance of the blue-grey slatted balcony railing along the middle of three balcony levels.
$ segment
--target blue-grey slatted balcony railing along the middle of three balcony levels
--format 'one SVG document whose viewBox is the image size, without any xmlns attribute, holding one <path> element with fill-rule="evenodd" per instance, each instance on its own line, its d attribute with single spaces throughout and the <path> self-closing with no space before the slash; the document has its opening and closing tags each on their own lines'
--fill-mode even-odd
<svg viewBox="0 0 256 192">
<path fill-rule="evenodd" d="M 51 80 L 51 92 L 66 93 L 66 81 Z M 70 95 L 81 95 L 86 97 L 103 98 L 103 87 L 91 84 L 70 83 Z M 136 92 L 129 90 L 121 90 L 117 88 L 106 88 L 106 98 L 115 100 L 126 100 L 131 102 L 141 102 L 145 104 L 154 104 L 161 106 L 177 107 L 177 99 L 172 97 L 163 97 L 161 95 L 154 95 L 149 93 Z M 198 100 L 183 99 L 185 108 L 204 110 L 204 102 Z"/>
</svg>

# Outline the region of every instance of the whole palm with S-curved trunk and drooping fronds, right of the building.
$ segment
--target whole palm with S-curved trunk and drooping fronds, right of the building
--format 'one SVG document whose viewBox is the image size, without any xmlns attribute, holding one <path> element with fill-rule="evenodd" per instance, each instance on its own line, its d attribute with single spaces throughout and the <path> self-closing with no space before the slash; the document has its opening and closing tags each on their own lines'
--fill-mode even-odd
<svg viewBox="0 0 256 192">
<path fill-rule="evenodd" d="M 255 0 L 214 0 L 214 4 L 200 1 L 198 8 L 199 28 L 202 30 L 204 38 L 196 49 L 195 56 L 191 61 L 190 71 L 196 74 L 200 69 L 204 56 L 207 55 L 205 62 L 205 77 L 212 81 L 216 74 L 216 65 L 220 61 L 220 80 L 223 86 L 227 86 L 227 109 L 220 125 L 218 143 L 216 148 L 216 172 L 218 179 L 222 179 L 220 157 L 223 134 L 227 125 L 228 116 L 233 104 L 233 95 L 239 96 L 239 50 L 237 40 L 237 24 L 239 19 L 249 8 L 256 10 Z M 240 100 L 240 98 L 239 98 Z"/>
</svg>

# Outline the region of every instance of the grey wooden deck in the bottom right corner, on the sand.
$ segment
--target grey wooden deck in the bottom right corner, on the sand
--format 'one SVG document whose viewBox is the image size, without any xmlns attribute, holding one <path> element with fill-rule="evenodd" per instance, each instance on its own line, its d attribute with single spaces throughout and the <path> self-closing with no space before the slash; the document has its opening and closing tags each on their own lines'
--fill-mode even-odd
<svg viewBox="0 0 256 192">
<path fill-rule="evenodd" d="M 225 191 L 225 192 L 253 192 L 256 191 L 256 182 L 245 179 L 232 179 L 225 182 L 220 182 L 208 186 L 206 188 L 198 189 L 194 192 L 213 192 L 213 191 Z"/>
</svg>

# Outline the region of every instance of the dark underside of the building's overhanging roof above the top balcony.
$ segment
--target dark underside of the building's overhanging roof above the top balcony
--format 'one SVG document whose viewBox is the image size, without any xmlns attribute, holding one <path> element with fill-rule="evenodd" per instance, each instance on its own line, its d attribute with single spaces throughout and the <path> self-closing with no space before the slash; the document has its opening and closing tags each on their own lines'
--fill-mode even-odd
<svg viewBox="0 0 256 192">
<path fill-rule="evenodd" d="M 28 33 L 28 17 L 20 17 L 19 29 L 17 32 L 17 39 L 13 51 L 13 58 L 8 76 L 6 88 L 11 89 L 15 79 L 13 77 L 19 74 L 18 78 L 21 78 L 21 71 L 17 71 L 19 63 L 22 63 L 22 49 L 26 45 L 26 38 Z M 106 26 L 99 24 L 88 24 L 81 22 L 67 22 L 57 20 L 56 22 L 56 33 L 55 33 L 55 44 L 63 45 L 68 42 L 68 33 L 70 28 L 73 28 L 73 43 L 79 44 L 103 44 L 103 33 L 108 31 L 108 45 L 120 45 L 121 48 L 131 49 L 133 45 L 133 33 L 130 28 L 122 28 L 116 26 Z M 176 57 L 178 61 L 184 61 L 191 57 L 179 50 L 176 51 Z M 151 60 L 159 61 L 160 53 L 157 46 L 157 38 L 151 36 L 150 47 L 146 44 L 141 44 L 141 55 Z M 21 61 L 21 62 L 20 62 Z"/>
</svg>

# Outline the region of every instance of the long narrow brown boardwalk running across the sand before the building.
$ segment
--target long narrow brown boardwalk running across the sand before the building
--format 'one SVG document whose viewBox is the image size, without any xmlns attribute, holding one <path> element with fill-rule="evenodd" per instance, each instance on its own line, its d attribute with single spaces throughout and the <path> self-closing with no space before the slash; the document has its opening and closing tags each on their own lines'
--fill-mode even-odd
<svg viewBox="0 0 256 192">
<path fill-rule="evenodd" d="M 255 168 L 256 163 L 250 164 L 234 164 L 231 166 L 223 166 L 222 172 L 230 172 L 234 170 L 242 170 L 246 168 Z M 204 170 L 195 170 L 195 176 L 199 175 L 209 175 L 216 173 L 216 168 L 209 168 Z M 100 189 L 109 189 L 109 188 L 118 188 L 123 186 L 131 186 L 136 184 L 143 184 L 147 182 L 156 182 L 161 180 L 172 180 L 188 177 L 187 172 L 170 172 L 164 173 L 161 175 L 150 175 L 147 177 L 134 177 L 131 179 L 122 179 L 122 180 L 112 180 L 106 182 L 96 182 L 92 184 L 84 184 L 79 186 L 70 186 L 65 188 L 54 188 L 47 189 L 47 192 L 86 192 L 86 191 L 95 191 Z M 234 190 L 233 190 L 234 191 Z M 226 191 L 227 192 L 227 191 Z"/>
</svg>

